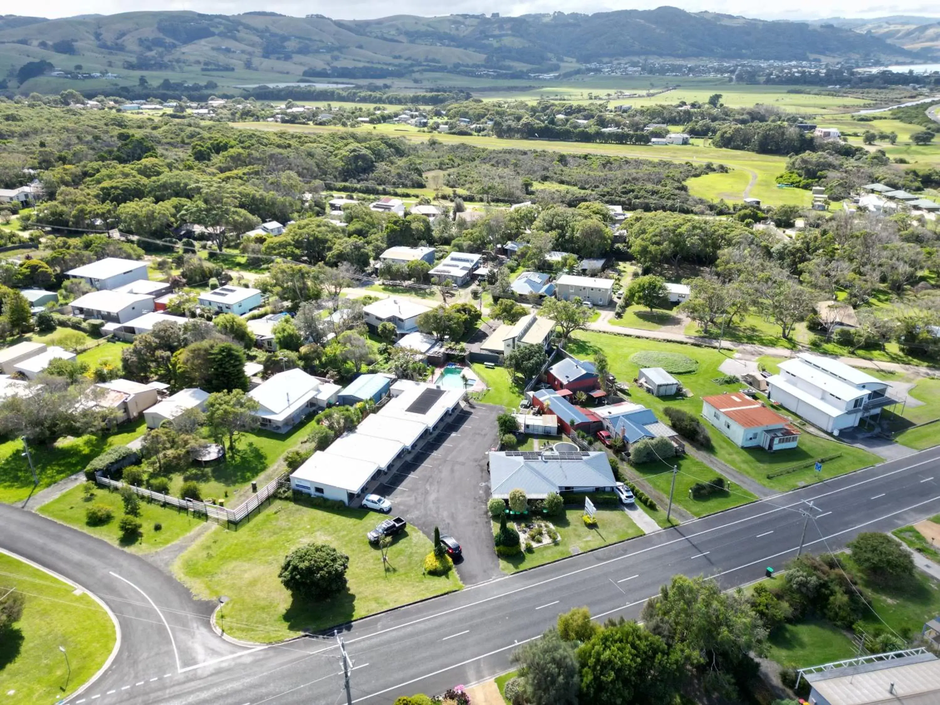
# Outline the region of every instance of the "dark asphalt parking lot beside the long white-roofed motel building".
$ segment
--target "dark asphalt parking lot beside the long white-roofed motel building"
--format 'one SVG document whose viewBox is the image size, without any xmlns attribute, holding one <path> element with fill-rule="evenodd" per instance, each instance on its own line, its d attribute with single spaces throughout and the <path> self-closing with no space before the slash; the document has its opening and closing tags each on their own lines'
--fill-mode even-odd
<svg viewBox="0 0 940 705">
<path fill-rule="evenodd" d="M 394 515 L 429 538 L 436 525 L 442 534 L 460 541 L 463 559 L 456 566 L 466 586 L 502 574 L 486 511 L 487 453 L 496 444 L 496 416 L 502 413 L 502 407 L 489 404 L 454 412 L 446 429 L 377 489 L 392 501 Z"/>
</svg>

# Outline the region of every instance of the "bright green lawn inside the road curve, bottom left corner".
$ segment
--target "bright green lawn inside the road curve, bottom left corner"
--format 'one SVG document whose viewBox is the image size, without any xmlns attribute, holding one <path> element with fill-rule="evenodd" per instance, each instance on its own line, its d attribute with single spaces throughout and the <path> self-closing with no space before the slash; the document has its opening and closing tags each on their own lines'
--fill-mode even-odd
<svg viewBox="0 0 940 705">
<path fill-rule="evenodd" d="M 23 618 L 0 640 L 4 702 L 55 702 L 102 667 L 114 649 L 115 627 L 99 603 L 74 587 L 0 554 L 0 588 L 24 593 Z M 71 677 L 65 655 L 71 665 Z"/>
</svg>

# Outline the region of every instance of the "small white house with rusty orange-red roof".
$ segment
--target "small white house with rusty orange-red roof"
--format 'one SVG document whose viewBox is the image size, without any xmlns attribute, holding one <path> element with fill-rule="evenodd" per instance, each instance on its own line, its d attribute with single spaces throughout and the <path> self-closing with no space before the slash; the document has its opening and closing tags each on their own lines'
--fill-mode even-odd
<svg viewBox="0 0 940 705">
<path fill-rule="evenodd" d="M 742 448 L 786 450 L 795 448 L 800 437 L 790 419 L 740 392 L 702 397 L 702 415 Z"/>
</svg>

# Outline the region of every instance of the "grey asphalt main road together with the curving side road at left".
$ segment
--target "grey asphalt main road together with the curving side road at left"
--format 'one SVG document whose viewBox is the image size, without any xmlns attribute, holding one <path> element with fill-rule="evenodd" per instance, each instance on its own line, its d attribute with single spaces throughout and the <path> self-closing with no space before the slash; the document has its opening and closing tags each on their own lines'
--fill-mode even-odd
<svg viewBox="0 0 940 705">
<path fill-rule="evenodd" d="M 807 530 L 813 552 L 839 548 L 859 531 L 910 524 L 940 511 L 940 447 L 355 622 L 344 630 L 355 666 L 352 699 L 390 703 L 403 694 L 437 693 L 491 677 L 557 613 L 587 605 L 596 618 L 636 617 L 676 573 L 707 575 L 722 587 L 760 578 L 765 566 L 779 568 L 795 554 L 804 500 L 818 508 Z M 12 529 L 0 535 L 0 545 L 98 591 L 116 612 L 130 613 L 119 618 L 128 627 L 115 666 L 68 702 L 328 704 L 341 695 L 330 639 L 243 653 L 216 639 L 220 646 L 212 650 L 205 626 L 209 605 L 183 597 L 146 561 L 19 509 L 0 508 L 0 522 Z M 143 583 L 159 613 L 108 577 L 115 566 Z M 173 667 L 170 634 L 182 673 Z M 211 653 L 237 655 L 202 663 Z M 92 700 L 95 695 L 100 697 Z"/>
</svg>

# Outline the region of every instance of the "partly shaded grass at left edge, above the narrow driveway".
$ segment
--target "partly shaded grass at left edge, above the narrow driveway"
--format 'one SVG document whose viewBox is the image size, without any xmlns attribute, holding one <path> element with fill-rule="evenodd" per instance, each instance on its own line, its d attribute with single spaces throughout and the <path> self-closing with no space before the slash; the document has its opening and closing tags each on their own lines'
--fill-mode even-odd
<svg viewBox="0 0 940 705">
<path fill-rule="evenodd" d="M 103 438 L 89 434 L 79 438 L 59 439 L 51 446 L 30 444 L 33 464 L 39 477 L 37 491 L 81 472 L 106 447 L 126 445 L 143 432 L 144 419 L 141 418 L 133 423 L 121 424 L 117 433 Z M 33 492 L 33 476 L 22 453 L 23 442 L 19 439 L 0 444 L 0 502 L 19 502 Z"/>
</svg>

